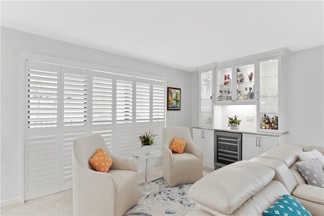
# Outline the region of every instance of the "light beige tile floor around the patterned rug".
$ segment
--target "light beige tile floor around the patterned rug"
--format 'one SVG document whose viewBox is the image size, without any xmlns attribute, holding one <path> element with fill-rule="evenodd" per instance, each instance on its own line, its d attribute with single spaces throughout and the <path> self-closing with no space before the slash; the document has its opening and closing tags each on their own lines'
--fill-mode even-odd
<svg viewBox="0 0 324 216">
<path fill-rule="evenodd" d="M 214 169 L 204 167 L 203 176 L 212 171 Z M 161 177 L 162 165 L 151 167 L 149 181 Z M 140 171 L 139 183 L 144 181 L 145 171 Z M 1 215 L 73 215 L 72 189 L 0 208 Z"/>
</svg>

